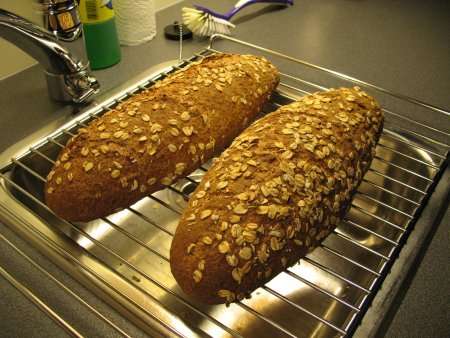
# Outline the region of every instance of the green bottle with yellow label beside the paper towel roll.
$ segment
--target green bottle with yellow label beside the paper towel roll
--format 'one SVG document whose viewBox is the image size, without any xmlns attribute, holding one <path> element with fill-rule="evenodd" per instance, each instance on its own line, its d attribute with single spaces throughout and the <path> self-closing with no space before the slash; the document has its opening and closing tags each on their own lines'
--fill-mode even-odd
<svg viewBox="0 0 450 338">
<path fill-rule="evenodd" d="M 79 9 L 91 69 L 115 65 L 121 53 L 112 0 L 81 0 Z"/>
</svg>

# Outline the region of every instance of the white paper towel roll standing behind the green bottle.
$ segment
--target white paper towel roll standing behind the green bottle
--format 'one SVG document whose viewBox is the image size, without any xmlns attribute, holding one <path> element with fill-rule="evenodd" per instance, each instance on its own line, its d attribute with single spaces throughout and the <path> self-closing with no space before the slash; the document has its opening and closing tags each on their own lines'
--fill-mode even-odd
<svg viewBox="0 0 450 338">
<path fill-rule="evenodd" d="M 136 46 L 156 35 L 154 0 L 114 0 L 117 34 L 124 46 Z"/>
</svg>

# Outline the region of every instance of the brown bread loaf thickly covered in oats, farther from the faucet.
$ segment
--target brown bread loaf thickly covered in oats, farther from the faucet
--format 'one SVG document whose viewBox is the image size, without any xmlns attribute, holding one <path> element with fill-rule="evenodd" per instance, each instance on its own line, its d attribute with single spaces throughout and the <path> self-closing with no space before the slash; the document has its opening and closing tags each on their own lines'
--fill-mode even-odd
<svg viewBox="0 0 450 338">
<path fill-rule="evenodd" d="M 339 224 L 383 125 L 359 88 L 303 97 L 253 123 L 216 159 L 186 206 L 170 264 L 208 304 L 248 296 Z"/>
</svg>

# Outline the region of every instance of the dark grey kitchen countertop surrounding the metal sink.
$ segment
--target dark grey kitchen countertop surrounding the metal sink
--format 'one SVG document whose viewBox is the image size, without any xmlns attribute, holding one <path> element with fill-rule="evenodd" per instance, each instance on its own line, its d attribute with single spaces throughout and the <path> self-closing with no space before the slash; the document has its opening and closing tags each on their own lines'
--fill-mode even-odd
<svg viewBox="0 0 450 338">
<path fill-rule="evenodd" d="M 165 25 L 180 20 L 182 5 L 211 5 L 207 1 L 183 1 L 157 13 L 155 39 L 136 47 L 122 47 L 122 60 L 94 71 L 105 93 L 156 64 L 178 58 L 178 43 L 163 37 Z M 225 11 L 234 1 L 214 3 Z M 268 10 L 270 8 L 270 10 Z M 450 110 L 450 5 L 447 1 L 295 1 L 291 8 L 273 10 L 255 5 L 239 13 L 234 37 L 333 69 L 366 82 Z M 270 24 L 270 26 L 269 26 Z M 200 50 L 206 40 L 184 43 L 184 56 Z M 5 55 L 0 56 L 0 62 Z M 0 152 L 61 116 L 73 107 L 52 103 L 40 66 L 33 66 L 0 82 Z M 447 204 L 448 206 L 448 204 Z M 450 336 L 450 213 L 414 262 L 402 292 L 389 310 L 379 334 L 387 337 Z M 102 308 L 118 326 L 133 336 L 143 333 L 72 280 L 4 224 L 0 234 L 48 268 L 78 294 Z M 36 288 L 40 297 L 65 314 L 81 332 L 110 336 L 102 324 L 59 295 L 36 269 L 0 241 L 0 265 Z M 63 336 L 66 333 L 34 307 L 3 278 L 0 279 L 0 332 L 2 336 Z M 391 319 L 391 320 L 390 320 Z M 81 323 L 81 324 L 80 324 Z"/>
</svg>

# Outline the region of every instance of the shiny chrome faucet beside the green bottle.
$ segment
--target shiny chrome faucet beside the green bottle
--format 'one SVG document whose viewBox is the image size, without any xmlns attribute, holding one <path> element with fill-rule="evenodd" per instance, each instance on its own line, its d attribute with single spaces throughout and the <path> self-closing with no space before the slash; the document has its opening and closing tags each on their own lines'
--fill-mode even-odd
<svg viewBox="0 0 450 338">
<path fill-rule="evenodd" d="M 35 58 L 44 68 L 49 95 L 81 103 L 98 92 L 90 75 L 76 0 L 35 0 L 39 24 L 0 9 L 0 37 Z"/>
</svg>

